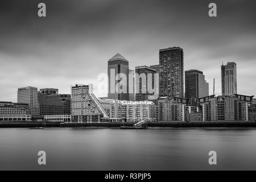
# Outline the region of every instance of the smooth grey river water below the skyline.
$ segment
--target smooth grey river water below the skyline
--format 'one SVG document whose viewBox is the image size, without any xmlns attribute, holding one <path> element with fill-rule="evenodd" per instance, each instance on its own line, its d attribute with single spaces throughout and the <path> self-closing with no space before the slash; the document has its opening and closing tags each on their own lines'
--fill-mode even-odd
<svg viewBox="0 0 256 182">
<path fill-rule="evenodd" d="M 0 170 L 255 169 L 256 129 L 0 129 Z"/>
</svg>

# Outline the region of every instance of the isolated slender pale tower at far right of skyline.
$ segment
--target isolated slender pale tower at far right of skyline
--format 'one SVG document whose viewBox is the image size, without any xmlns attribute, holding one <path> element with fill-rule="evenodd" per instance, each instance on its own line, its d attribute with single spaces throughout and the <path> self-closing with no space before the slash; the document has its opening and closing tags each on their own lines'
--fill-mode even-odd
<svg viewBox="0 0 256 182">
<path fill-rule="evenodd" d="M 237 94 L 237 64 L 228 62 L 221 65 L 222 96 Z"/>
</svg>

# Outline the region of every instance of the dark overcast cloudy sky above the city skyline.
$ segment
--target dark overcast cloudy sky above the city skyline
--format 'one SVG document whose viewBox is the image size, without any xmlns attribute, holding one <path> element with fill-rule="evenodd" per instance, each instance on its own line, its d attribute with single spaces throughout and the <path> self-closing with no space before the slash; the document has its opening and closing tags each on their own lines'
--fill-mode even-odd
<svg viewBox="0 0 256 182">
<path fill-rule="evenodd" d="M 47 17 L 38 17 L 38 3 Z M 210 2 L 217 17 L 208 16 Z M 184 69 L 199 69 L 221 93 L 222 62 L 237 63 L 238 93 L 256 96 L 256 1 L 30 0 L 0 2 L 0 101 L 17 88 L 94 84 L 119 52 L 130 69 L 158 64 L 159 49 L 179 46 Z"/>
</svg>

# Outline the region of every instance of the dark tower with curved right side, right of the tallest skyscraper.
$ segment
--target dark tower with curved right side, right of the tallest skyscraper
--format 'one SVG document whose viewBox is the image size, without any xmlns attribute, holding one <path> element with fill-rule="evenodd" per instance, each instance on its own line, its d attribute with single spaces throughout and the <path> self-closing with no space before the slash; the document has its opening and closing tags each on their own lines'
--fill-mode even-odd
<svg viewBox="0 0 256 182">
<path fill-rule="evenodd" d="M 202 71 L 191 69 L 185 71 L 185 98 L 203 98 L 209 95 L 209 84 Z"/>
</svg>

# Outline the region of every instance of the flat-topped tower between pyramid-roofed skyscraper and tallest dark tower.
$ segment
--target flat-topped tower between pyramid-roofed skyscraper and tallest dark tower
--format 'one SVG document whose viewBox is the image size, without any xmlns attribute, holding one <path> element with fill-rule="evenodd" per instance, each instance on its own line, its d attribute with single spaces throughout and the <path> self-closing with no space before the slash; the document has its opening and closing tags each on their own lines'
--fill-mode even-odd
<svg viewBox="0 0 256 182">
<path fill-rule="evenodd" d="M 148 101 L 158 98 L 158 75 L 147 66 L 135 67 L 135 100 Z"/>
</svg>

